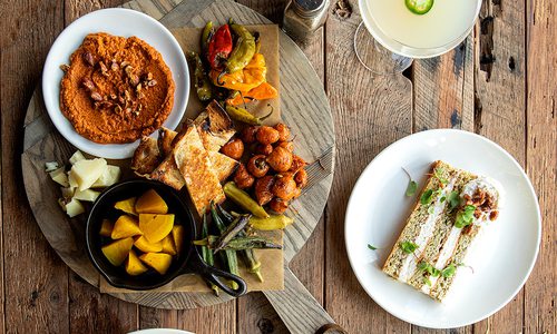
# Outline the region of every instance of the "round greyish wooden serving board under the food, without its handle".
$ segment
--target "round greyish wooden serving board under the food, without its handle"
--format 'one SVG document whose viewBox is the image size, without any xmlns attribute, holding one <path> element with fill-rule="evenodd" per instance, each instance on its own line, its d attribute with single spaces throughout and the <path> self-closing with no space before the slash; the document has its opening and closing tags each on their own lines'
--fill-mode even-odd
<svg viewBox="0 0 557 334">
<path fill-rule="evenodd" d="M 145 12 L 169 29 L 203 27 L 207 20 L 223 23 L 231 17 L 244 24 L 271 23 L 260 13 L 232 1 L 138 0 L 124 7 Z M 295 219 L 295 224 L 289 226 L 284 234 L 284 259 L 289 263 L 310 237 L 323 213 L 333 177 L 334 129 L 321 80 L 305 55 L 282 31 L 280 73 L 283 120 L 296 136 L 296 153 L 313 163 L 307 169 L 310 187 L 291 205 L 287 213 Z M 70 219 L 62 213 L 57 203 L 59 186 L 45 173 L 45 163 L 68 161 L 75 150 L 51 124 L 40 87 L 37 88 L 27 110 L 21 156 L 27 196 L 37 223 L 58 255 L 74 272 L 98 287 L 99 275 L 85 248 L 86 215 Z M 211 293 L 144 292 L 113 295 L 159 308 L 195 308 L 231 299 L 227 295 L 215 297 Z"/>
</svg>

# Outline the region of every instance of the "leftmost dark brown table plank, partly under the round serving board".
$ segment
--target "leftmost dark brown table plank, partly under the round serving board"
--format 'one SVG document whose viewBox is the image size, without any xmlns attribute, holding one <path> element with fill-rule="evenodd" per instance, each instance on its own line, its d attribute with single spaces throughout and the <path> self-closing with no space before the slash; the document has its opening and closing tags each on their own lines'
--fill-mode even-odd
<svg viewBox="0 0 557 334">
<path fill-rule="evenodd" d="M 41 235 L 21 187 L 25 110 L 42 61 L 62 29 L 60 1 L 2 3 L 0 22 L 2 308 L 1 327 L 68 332 L 68 269 Z M 33 50 L 29 52 L 29 50 Z"/>
</svg>

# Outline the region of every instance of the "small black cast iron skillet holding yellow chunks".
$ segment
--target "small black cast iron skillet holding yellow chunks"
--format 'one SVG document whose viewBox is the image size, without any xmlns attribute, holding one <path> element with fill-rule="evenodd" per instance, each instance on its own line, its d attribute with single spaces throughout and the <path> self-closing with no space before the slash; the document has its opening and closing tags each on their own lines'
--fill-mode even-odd
<svg viewBox="0 0 557 334">
<path fill-rule="evenodd" d="M 140 196 L 148 189 L 155 189 L 166 202 L 168 205 L 168 213 L 175 215 L 174 224 L 184 226 L 184 246 L 180 254 L 177 255 L 177 258 L 173 258 L 173 263 L 165 275 L 160 275 L 149 269 L 145 274 L 130 276 L 126 273 L 124 266 L 115 267 L 111 265 L 100 250 L 102 245 L 110 242 L 109 238 L 99 235 L 100 224 L 105 218 L 115 222 L 118 216 L 123 214 L 120 210 L 114 208 L 116 202 Z M 138 291 L 153 289 L 169 283 L 179 275 L 198 274 L 234 297 L 245 294 L 246 284 L 244 279 L 231 273 L 208 266 L 203 262 L 197 248 L 192 245 L 192 240 L 194 240 L 196 235 L 196 226 L 192 212 L 178 193 L 157 181 L 131 179 L 107 188 L 97 198 L 92 205 L 89 218 L 87 219 L 86 243 L 89 258 L 94 266 L 110 285 L 116 287 Z M 221 281 L 221 277 L 236 282 L 238 288 L 231 288 Z"/>
</svg>

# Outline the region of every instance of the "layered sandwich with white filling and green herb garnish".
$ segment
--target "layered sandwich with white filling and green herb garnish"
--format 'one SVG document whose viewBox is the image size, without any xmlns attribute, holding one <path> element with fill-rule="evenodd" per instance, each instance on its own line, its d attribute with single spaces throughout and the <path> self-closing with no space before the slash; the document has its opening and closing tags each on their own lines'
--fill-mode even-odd
<svg viewBox="0 0 557 334">
<path fill-rule="evenodd" d="M 383 272 L 442 301 L 486 224 L 497 219 L 500 191 L 486 177 L 434 161 Z"/>
</svg>

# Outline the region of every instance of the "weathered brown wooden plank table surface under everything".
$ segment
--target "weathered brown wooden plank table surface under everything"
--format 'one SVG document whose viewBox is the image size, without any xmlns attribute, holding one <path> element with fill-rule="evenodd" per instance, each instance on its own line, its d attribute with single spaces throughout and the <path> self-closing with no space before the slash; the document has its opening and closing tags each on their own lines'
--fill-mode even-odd
<svg viewBox="0 0 557 334">
<path fill-rule="evenodd" d="M 159 3 L 172 7 L 177 1 Z M 76 18 L 123 2 L 0 2 L 0 328 L 287 333 L 262 294 L 189 311 L 139 307 L 101 295 L 58 258 L 31 215 L 20 168 L 22 125 L 46 55 Z M 238 2 L 280 22 L 286 1 Z M 374 77 L 356 62 L 352 38 L 361 21 L 358 1 L 344 1 L 353 9 L 348 19 L 335 16 L 336 1 L 331 2 L 324 29 L 303 50 L 331 101 L 336 174 L 322 222 L 291 265 L 294 273 L 350 333 L 436 332 L 389 315 L 360 287 L 345 255 L 344 212 L 358 176 L 389 144 L 413 131 L 461 128 L 500 144 L 526 169 L 539 198 L 544 235 L 536 267 L 518 295 L 488 320 L 450 333 L 556 333 L 557 2 L 485 0 L 473 36 L 465 43 L 442 57 L 416 61 L 405 76 L 395 77 Z"/>
</svg>

